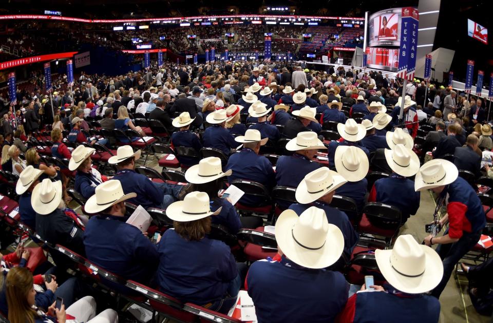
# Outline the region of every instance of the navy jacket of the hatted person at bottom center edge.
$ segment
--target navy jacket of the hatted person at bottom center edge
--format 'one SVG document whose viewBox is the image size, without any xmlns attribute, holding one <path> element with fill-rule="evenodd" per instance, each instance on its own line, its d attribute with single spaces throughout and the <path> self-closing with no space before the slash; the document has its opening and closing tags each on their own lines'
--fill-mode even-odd
<svg viewBox="0 0 493 323">
<path fill-rule="evenodd" d="M 255 261 L 246 284 L 259 323 L 333 322 L 348 300 L 343 274 L 304 268 L 284 256 Z"/>
</svg>

